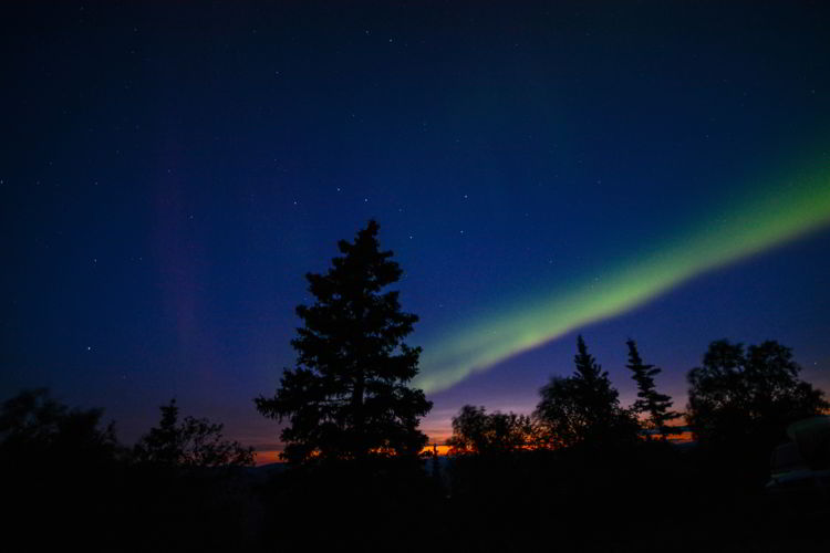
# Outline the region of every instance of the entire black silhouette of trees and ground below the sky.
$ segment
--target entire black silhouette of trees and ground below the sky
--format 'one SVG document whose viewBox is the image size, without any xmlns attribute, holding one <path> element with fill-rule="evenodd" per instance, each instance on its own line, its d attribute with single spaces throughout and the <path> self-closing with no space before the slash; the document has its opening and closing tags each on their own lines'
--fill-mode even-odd
<svg viewBox="0 0 830 553">
<path fill-rule="evenodd" d="M 339 243 L 328 273 L 307 275 L 315 303 L 297 310 L 297 366 L 273 396 L 255 399 L 282 424 L 286 463 L 253 468 L 251 449 L 226 440 L 221 425 L 180 418 L 175 401 L 125 447 L 101 410 L 24 392 L 0 411 L 8 543 L 108 552 L 827 547 L 827 482 L 784 498 L 765 489 L 788 427 L 829 407 L 799 378 L 790 348 L 772 341 L 713 342 L 689 371 L 684 417 L 694 444 L 666 439 L 684 420 L 634 341 L 626 366 L 637 398 L 625 407 L 580 336 L 573 373 L 551 377 L 531 415 L 464 406 L 450 456 L 430 452 L 418 420 L 432 404 L 409 386 L 421 349 L 404 343 L 417 316 L 401 311 L 397 292 L 383 292 L 402 271 L 376 236 L 372 221 Z M 802 469 L 830 480 L 830 440 L 813 440 L 805 459 Z M 817 490 L 818 505 L 803 500 Z"/>
</svg>

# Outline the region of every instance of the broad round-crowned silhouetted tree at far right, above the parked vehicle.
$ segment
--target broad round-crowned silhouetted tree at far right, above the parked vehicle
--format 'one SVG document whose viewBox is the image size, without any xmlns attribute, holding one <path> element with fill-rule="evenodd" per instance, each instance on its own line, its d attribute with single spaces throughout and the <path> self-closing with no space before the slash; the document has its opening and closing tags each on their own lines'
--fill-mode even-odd
<svg viewBox="0 0 830 553">
<path fill-rule="evenodd" d="M 696 439 L 771 447 L 788 424 L 820 415 L 829 405 L 820 389 L 798 378 L 800 371 L 792 349 L 775 341 L 746 352 L 743 344 L 713 342 L 703 365 L 687 375 L 687 419 Z"/>
</svg>

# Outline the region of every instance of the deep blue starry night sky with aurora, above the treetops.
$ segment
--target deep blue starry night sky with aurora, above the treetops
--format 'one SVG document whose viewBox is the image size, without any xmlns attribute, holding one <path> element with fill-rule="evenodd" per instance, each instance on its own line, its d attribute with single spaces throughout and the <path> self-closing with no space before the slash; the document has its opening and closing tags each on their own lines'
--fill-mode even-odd
<svg viewBox="0 0 830 553">
<path fill-rule="evenodd" d="M 521 6 L 518 6 L 521 4 Z M 582 333 L 685 406 L 708 343 L 830 390 L 824 2 L 3 2 L 0 392 L 177 397 L 269 451 L 303 275 L 370 218 L 442 440 Z"/>
</svg>

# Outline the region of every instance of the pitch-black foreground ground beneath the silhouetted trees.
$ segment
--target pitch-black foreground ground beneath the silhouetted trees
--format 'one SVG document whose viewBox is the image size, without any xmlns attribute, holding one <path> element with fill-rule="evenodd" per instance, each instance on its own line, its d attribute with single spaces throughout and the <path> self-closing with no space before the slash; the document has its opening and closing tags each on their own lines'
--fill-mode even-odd
<svg viewBox="0 0 830 553">
<path fill-rule="evenodd" d="M 770 497 L 761 465 L 726 459 L 643 444 L 302 470 L 8 467 L 3 535 L 15 551 L 830 551 L 827 498 Z"/>
</svg>

